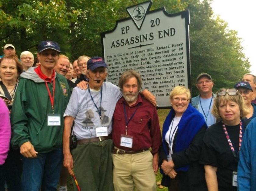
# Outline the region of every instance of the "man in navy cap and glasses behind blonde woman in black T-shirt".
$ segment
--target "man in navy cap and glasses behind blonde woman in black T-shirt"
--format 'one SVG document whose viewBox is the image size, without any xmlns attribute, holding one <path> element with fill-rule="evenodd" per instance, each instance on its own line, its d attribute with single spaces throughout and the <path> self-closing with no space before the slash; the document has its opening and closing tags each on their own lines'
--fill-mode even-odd
<svg viewBox="0 0 256 191">
<path fill-rule="evenodd" d="M 252 100 L 255 97 L 255 93 L 252 90 L 250 83 L 246 81 L 237 82 L 234 85 L 234 88 L 237 89 L 243 96 L 244 103 L 247 108 L 249 108 L 249 114 L 246 115 L 246 118 L 251 120 L 256 117 L 256 104 L 252 103 Z"/>
</svg>

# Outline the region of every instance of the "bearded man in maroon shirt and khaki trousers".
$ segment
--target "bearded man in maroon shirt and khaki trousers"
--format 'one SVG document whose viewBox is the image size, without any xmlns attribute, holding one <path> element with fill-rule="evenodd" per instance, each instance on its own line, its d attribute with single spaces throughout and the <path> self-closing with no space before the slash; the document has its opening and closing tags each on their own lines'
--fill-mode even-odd
<svg viewBox="0 0 256 191">
<path fill-rule="evenodd" d="M 119 87 L 123 97 L 116 104 L 113 118 L 113 183 L 115 190 L 156 190 L 158 148 L 161 133 L 156 108 L 141 97 L 140 74 L 128 70 Z M 151 147 L 151 152 L 149 148 Z"/>
</svg>

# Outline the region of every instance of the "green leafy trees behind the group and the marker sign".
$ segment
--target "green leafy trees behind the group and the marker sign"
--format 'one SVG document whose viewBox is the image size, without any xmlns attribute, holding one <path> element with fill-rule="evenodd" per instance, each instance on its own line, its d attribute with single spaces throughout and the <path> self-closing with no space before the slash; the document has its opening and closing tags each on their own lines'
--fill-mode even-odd
<svg viewBox="0 0 256 191">
<path fill-rule="evenodd" d="M 75 60 L 80 55 L 101 56 L 100 33 L 113 29 L 116 20 L 129 15 L 126 7 L 145 0 L 0 0 L 0 46 L 11 43 L 19 55 L 36 53 L 41 40 L 59 43 L 62 53 Z M 215 89 L 232 87 L 250 63 L 242 53 L 241 39 L 227 23 L 213 18 L 211 0 L 154 0 L 151 10 L 169 13 L 190 10 L 191 81 L 210 73 Z M 198 94 L 195 86 L 193 96 Z"/>
</svg>

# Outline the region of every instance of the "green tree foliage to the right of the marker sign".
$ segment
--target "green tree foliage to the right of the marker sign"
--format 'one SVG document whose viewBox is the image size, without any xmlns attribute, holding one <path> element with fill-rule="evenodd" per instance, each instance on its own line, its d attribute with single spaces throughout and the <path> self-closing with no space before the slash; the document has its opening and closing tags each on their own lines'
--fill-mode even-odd
<svg viewBox="0 0 256 191">
<path fill-rule="evenodd" d="M 209 1 L 189 1 L 190 10 L 190 61 L 192 96 L 198 94 L 194 86 L 201 72 L 209 73 L 215 86 L 233 87 L 244 73 L 248 73 L 250 63 L 245 57 L 241 39 L 237 32 L 230 30 L 219 17 L 213 18 Z"/>
</svg>

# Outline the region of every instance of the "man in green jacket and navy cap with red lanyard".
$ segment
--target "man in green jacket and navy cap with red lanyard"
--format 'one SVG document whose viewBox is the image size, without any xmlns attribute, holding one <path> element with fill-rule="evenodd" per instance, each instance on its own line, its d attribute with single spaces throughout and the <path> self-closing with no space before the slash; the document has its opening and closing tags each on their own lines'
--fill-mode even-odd
<svg viewBox="0 0 256 191">
<path fill-rule="evenodd" d="M 70 97 L 64 76 L 54 71 L 60 48 L 38 45 L 38 67 L 20 75 L 11 112 L 13 147 L 23 155 L 23 190 L 56 190 L 62 166 L 63 114 Z"/>
</svg>

